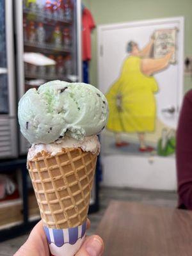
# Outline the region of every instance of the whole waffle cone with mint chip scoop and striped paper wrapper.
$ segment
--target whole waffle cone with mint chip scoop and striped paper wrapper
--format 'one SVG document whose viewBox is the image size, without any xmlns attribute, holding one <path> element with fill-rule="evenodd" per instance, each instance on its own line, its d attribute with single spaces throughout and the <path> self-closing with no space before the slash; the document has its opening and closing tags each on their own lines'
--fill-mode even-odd
<svg viewBox="0 0 192 256">
<path fill-rule="evenodd" d="M 74 256 L 85 238 L 106 97 L 91 84 L 50 81 L 22 96 L 18 118 L 51 255 Z"/>
</svg>

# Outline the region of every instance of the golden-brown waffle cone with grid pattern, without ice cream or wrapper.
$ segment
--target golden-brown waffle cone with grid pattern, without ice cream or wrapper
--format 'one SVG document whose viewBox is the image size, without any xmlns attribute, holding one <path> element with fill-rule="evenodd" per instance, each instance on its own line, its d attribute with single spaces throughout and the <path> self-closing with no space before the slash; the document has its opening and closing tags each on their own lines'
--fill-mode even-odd
<svg viewBox="0 0 192 256">
<path fill-rule="evenodd" d="M 28 170 L 44 225 L 82 225 L 88 214 L 97 154 L 63 148 L 56 156 L 42 151 L 28 161 Z"/>
</svg>

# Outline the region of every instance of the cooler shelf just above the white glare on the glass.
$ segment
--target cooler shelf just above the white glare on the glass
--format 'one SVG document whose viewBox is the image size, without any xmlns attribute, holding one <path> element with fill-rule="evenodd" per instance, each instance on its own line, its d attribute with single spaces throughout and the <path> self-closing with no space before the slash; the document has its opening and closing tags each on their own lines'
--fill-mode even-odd
<svg viewBox="0 0 192 256">
<path fill-rule="evenodd" d="M 56 48 L 53 44 L 46 43 L 46 44 L 40 44 L 38 42 L 24 42 L 25 47 L 30 47 L 29 51 L 31 51 L 31 48 L 34 50 L 39 50 L 44 53 L 52 54 L 53 52 L 62 52 L 62 53 L 70 53 L 72 52 L 72 49 L 66 48 L 66 47 L 58 47 Z"/>
</svg>

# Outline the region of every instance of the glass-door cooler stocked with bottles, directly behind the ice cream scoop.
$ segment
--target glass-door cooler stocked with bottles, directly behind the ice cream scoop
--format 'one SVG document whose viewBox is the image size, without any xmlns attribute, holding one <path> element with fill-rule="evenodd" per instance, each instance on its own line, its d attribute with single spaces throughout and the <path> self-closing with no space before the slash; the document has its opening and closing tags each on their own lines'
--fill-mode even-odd
<svg viewBox="0 0 192 256">
<path fill-rule="evenodd" d="M 15 4 L 19 99 L 51 80 L 81 81 L 81 1 Z M 28 143 L 20 134 L 20 154 Z"/>
</svg>

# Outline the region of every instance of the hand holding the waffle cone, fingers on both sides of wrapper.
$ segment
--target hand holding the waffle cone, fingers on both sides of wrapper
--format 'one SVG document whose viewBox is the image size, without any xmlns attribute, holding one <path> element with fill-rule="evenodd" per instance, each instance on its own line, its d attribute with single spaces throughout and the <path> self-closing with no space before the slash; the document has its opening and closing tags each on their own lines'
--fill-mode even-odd
<svg viewBox="0 0 192 256">
<path fill-rule="evenodd" d="M 87 221 L 87 228 L 90 221 Z M 104 243 L 99 236 L 86 237 L 76 256 L 101 256 L 104 251 Z M 49 256 L 49 246 L 45 236 L 42 221 L 39 221 L 31 231 L 26 243 L 13 256 Z"/>
</svg>

